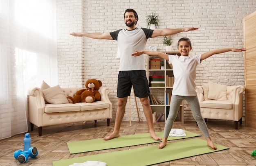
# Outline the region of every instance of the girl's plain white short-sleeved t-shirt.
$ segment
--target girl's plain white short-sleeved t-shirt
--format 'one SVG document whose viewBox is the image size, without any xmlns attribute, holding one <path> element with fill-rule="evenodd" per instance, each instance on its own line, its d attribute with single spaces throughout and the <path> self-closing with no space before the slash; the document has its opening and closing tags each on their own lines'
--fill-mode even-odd
<svg viewBox="0 0 256 166">
<path fill-rule="evenodd" d="M 196 67 L 201 62 L 201 55 L 178 56 L 169 55 L 169 63 L 173 65 L 173 95 L 196 96 Z"/>
</svg>

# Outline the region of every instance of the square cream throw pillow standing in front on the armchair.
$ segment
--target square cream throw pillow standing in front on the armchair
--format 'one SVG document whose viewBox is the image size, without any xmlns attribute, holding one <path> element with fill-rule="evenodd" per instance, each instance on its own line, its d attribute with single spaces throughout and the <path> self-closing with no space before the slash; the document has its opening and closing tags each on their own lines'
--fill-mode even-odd
<svg viewBox="0 0 256 166">
<path fill-rule="evenodd" d="M 226 85 L 208 82 L 208 98 L 212 100 L 227 100 Z"/>
</svg>

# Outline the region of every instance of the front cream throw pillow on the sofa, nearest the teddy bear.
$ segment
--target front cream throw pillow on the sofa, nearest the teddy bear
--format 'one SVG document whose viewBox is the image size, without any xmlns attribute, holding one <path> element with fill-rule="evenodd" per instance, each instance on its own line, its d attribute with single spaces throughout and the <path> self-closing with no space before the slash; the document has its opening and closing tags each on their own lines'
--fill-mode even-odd
<svg viewBox="0 0 256 166">
<path fill-rule="evenodd" d="M 50 104 L 69 103 L 60 85 L 49 87 L 43 90 L 43 95 L 45 96 L 45 101 L 47 101 Z"/>
</svg>

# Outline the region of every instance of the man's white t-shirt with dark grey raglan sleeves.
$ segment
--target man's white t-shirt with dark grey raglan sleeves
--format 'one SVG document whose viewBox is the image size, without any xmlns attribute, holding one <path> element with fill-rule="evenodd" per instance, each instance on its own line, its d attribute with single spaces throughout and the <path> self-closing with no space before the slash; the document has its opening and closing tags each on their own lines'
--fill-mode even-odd
<svg viewBox="0 0 256 166">
<path fill-rule="evenodd" d="M 147 39 L 152 36 L 153 31 L 147 28 L 135 28 L 120 29 L 110 33 L 111 37 L 117 40 L 120 50 L 119 71 L 146 70 L 144 55 L 135 57 L 131 54 L 136 50 L 145 50 Z"/>
</svg>

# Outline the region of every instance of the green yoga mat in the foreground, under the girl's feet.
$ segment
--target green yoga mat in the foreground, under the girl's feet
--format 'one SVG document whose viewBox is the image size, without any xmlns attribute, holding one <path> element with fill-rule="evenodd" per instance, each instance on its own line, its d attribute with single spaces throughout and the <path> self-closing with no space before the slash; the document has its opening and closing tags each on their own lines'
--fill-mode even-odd
<svg viewBox="0 0 256 166">
<path fill-rule="evenodd" d="M 145 146 L 112 153 L 63 159 L 54 161 L 53 166 L 69 166 L 70 164 L 83 163 L 88 160 L 106 162 L 108 166 L 148 166 L 229 149 L 228 147 L 215 144 L 217 150 L 213 150 L 207 146 L 205 140 L 199 138 L 167 143 L 163 149 L 158 149 L 157 146 Z"/>
</svg>

